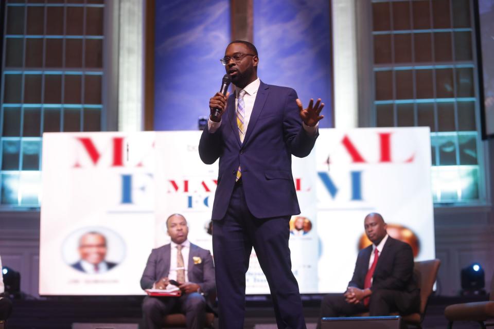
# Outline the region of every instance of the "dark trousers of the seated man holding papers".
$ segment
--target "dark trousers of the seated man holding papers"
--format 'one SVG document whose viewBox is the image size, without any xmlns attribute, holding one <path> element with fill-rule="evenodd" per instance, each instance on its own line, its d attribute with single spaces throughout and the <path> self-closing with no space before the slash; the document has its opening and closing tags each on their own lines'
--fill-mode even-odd
<svg viewBox="0 0 494 329">
<path fill-rule="evenodd" d="M 142 329 L 161 329 L 163 317 L 171 313 L 185 314 L 188 329 L 203 329 L 206 317 L 206 300 L 193 293 L 180 297 L 150 297 L 143 300 Z"/>
</svg>

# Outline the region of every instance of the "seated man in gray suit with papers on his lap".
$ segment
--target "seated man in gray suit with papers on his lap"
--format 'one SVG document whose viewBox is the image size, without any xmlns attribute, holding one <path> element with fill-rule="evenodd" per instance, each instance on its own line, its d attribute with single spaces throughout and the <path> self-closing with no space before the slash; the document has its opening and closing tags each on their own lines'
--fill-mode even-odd
<svg viewBox="0 0 494 329">
<path fill-rule="evenodd" d="M 208 305 L 204 295 L 216 289 L 213 257 L 208 250 L 187 240 L 185 217 L 173 214 L 166 221 L 171 243 L 153 249 L 144 269 L 143 289 L 165 289 L 170 280 L 177 281 L 181 297 L 151 297 L 143 301 L 143 321 L 147 329 L 160 329 L 164 315 L 183 313 L 187 328 L 203 328 Z"/>
</svg>

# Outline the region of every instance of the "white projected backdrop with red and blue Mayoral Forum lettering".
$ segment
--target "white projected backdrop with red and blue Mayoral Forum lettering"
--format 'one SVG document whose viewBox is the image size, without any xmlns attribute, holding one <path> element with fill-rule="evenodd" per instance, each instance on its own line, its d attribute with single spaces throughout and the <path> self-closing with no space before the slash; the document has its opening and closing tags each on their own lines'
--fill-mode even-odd
<svg viewBox="0 0 494 329">
<path fill-rule="evenodd" d="M 44 135 L 40 295 L 143 294 L 147 257 L 170 241 L 172 213 L 187 218 L 190 242 L 212 249 L 218 167 L 200 161 L 200 134 Z M 369 212 L 383 214 L 392 236 L 408 239 L 416 260 L 434 258 L 429 130 L 320 134 L 308 157 L 293 157 L 302 213 L 292 218 L 289 243 L 301 293 L 346 288 Z M 255 253 L 246 279 L 248 294 L 269 294 Z"/>
</svg>

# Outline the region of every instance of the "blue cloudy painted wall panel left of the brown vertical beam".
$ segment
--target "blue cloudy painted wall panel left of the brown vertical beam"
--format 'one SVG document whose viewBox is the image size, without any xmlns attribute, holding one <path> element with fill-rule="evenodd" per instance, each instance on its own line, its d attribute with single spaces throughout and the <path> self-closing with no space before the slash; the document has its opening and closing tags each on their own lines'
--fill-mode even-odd
<svg viewBox="0 0 494 329">
<path fill-rule="evenodd" d="M 225 74 L 230 1 L 156 1 L 154 130 L 197 130 Z"/>
</svg>

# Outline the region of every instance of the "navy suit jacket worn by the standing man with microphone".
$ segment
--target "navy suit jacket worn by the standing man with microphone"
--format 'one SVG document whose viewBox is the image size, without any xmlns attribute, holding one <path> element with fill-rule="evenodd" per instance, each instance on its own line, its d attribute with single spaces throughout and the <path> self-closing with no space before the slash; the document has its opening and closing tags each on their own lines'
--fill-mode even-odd
<svg viewBox="0 0 494 329">
<path fill-rule="evenodd" d="M 201 160 L 210 165 L 220 159 L 213 220 L 221 220 L 226 213 L 239 165 L 246 203 L 255 217 L 300 213 L 291 156 L 309 155 L 319 134 L 309 136 L 303 129 L 297 98 L 292 88 L 261 81 L 243 143 L 234 94 L 228 98 L 219 129 L 211 134 L 206 125 L 199 142 Z"/>
</svg>

